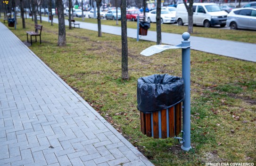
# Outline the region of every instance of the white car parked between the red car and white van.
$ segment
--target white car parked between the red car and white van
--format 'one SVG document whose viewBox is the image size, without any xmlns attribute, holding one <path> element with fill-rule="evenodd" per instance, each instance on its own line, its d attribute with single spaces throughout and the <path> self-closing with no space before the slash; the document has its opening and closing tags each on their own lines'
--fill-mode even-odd
<svg viewBox="0 0 256 166">
<path fill-rule="evenodd" d="M 157 10 L 152 10 L 148 14 L 148 22 L 156 23 L 157 22 Z M 171 13 L 167 9 L 161 10 L 161 23 L 175 23 L 175 13 Z"/>
</svg>

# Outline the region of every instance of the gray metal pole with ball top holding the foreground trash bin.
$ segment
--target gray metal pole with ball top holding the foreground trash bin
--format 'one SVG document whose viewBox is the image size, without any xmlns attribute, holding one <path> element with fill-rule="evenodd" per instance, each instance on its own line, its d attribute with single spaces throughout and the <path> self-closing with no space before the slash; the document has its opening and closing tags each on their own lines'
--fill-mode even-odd
<svg viewBox="0 0 256 166">
<path fill-rule="evenodd" d="M 182 46 L 190 46 L 190 34 L 182 34 Z M 185 99 L 183 101 L 183 138 L 182 149 L 189 151 L 190 146 L 190 47 L 182 48 L 182 78 L 185 87 Z"/>
</svg>

